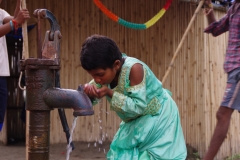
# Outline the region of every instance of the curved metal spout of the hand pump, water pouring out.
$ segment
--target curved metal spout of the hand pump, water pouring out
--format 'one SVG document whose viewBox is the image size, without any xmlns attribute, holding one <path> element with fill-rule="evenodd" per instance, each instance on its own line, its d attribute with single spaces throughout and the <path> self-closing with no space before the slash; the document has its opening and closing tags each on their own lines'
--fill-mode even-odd
<svg viewBox="0 0 240 160">
<path fill-rule="evenodd" d="M 81 87 L 78 90 L 49 88 L 43 93 L 43 100 L 51 108 L 72 108 L 75 117 L 94 114 L 92 103 Z"/>
</svg>

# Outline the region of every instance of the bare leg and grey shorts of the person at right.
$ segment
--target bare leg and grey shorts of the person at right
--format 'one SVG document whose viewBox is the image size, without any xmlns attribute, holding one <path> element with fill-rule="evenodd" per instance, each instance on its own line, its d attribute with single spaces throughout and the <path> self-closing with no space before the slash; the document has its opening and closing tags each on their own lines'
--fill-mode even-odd
<svg viewBox="0 0 240 160">
<path fill-rule="evenodd" d="M 231 116 L 234 110 L 240 111 L 240 68 L 228 73 L 227 86 L 219 107 L 217 125 L 210 142 L 209 149 L 203 160 L 213 160 L 226 138 Z"/>
</svg>

